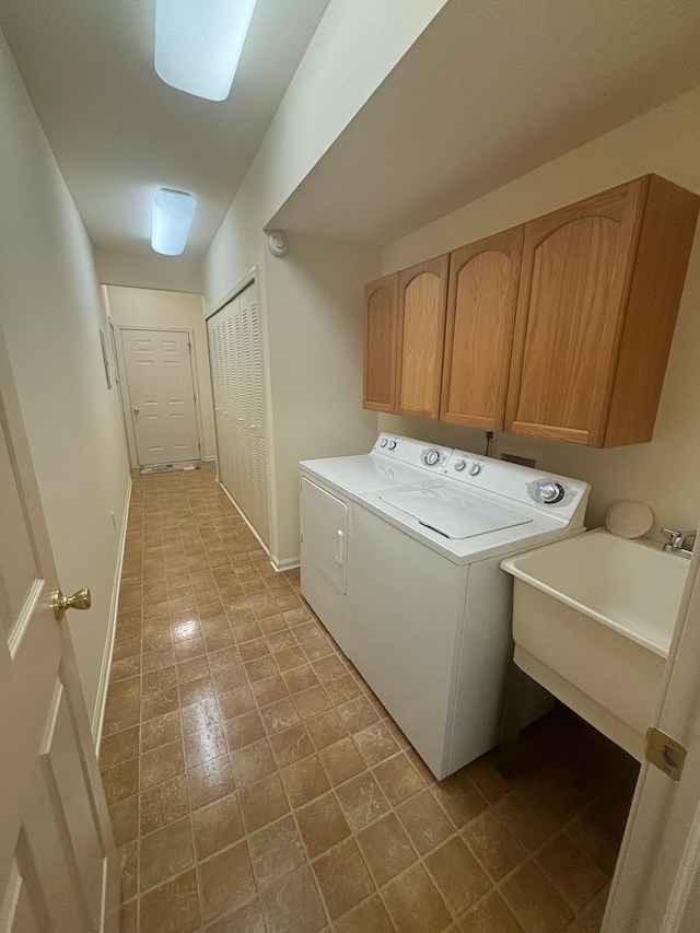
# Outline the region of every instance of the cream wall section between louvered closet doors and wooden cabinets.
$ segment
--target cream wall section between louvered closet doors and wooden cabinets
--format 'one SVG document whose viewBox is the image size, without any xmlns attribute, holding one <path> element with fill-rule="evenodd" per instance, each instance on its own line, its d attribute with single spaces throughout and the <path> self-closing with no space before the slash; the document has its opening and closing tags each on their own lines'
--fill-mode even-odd
<svg viewBox="0 0 700 933">
<path fill-rule="evenodd" d="M 362 409 L 363 282 L 378 250 L 294 236 L 267 266 L 277 523 L 271 551 L 299 558 L 299 460 L 365 453 L 376 415 Z"/>
</svg>

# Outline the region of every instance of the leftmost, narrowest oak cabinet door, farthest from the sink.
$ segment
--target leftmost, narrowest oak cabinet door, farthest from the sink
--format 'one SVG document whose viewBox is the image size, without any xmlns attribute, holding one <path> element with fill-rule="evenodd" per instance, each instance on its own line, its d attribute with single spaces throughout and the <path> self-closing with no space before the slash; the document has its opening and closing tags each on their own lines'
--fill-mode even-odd
<svg viewBox="0 0 700 933">
<path fill-rule="evenodd" d="M 374 411 L 394 411 L 398 272 L 364 287 L 364 401 Z"/>
</svg>

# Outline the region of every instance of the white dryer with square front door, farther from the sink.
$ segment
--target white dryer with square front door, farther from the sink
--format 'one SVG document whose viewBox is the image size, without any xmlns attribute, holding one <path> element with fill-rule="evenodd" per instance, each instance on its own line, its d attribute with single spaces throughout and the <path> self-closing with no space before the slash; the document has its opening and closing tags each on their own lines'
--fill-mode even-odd
<svg viewBox="0 0 700 933">
<path fill-rule="evenodd" d="M 300 463 L 301 590 L 350 656 L 352 500 L 440 476 L 452 450 L 382 432 L 369 454 Z"/>
</svg>

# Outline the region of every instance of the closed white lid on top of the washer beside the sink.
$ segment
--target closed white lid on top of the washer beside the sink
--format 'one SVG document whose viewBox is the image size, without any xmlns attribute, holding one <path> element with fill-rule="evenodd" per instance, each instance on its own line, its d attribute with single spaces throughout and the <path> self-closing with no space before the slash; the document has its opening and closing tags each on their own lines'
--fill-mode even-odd
<svg viewBox="0 0 700 933">
<path fill-rule="evenodd" d="M 452 540 L 475 538 L 533 521 L 513 509 L 442 483 L 421 483 L 419 488 L 389 491 L 380 498 Z"/>
</svg>

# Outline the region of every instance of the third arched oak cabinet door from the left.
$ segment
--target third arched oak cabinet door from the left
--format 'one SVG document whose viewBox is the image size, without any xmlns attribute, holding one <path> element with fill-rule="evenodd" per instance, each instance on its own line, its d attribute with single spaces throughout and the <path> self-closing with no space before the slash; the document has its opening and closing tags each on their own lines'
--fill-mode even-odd
<svg viewBox="0 0 700 933">
<path fill-rule="evenodd" d="M 503 427 L 523 228 L 450 257 L 441 421 Z"/>
</svg>

